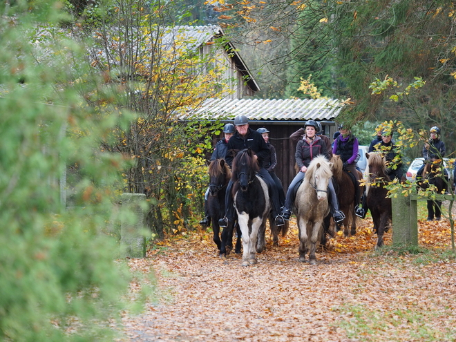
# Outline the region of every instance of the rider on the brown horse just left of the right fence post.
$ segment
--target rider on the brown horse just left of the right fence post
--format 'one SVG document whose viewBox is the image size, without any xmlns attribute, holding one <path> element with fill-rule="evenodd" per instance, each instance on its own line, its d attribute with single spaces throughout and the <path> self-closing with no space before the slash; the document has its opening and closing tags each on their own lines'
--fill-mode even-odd
<svg viewBox="0 0 456 342">
<path fill-rule="evenodd" d="M 384 128 L 383 131 L 381 131 L 381 142 L 374 145 L 373 152 L 381 153 L 381 155 L 385 157 L 387 166 L 386 173 L 388 174 L 390 180 L 394 180 L 395 178 L 400 180 L 403 175 L 402 158 L 397 146 L 391 139 L 392 131 Z M 368 210 L 368 196 L 364 193 L 361 207 L 358 207 L 355 213 L 359 218 L 365 218 Z"/>
</svg>

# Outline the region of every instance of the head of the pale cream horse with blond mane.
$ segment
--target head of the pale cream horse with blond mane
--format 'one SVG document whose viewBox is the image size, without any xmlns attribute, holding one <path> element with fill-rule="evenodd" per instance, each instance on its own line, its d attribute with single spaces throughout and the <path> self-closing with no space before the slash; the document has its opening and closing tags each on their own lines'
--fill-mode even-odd
<svg viewBox="0 0 456 342">
<path fill-rule="evenodd" d="M 327 198 L 327 185 L 332 177 L 331 168 L 333 164 L 328 162 L 323 155 L 317 155 L 305 173 L 305 178 L 309 180 L 310 185 L 316 191 L 318 200 L 325 200 Z"/>
</svg>

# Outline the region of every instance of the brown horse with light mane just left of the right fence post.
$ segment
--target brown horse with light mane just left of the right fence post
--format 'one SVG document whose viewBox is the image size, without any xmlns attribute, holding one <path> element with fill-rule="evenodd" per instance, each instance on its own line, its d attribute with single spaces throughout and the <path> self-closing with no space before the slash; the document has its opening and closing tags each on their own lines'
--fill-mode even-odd
<svg viewBox="0 0 456 342">
<path fill-rule="evenodd" d="M 388 198 L 386 184 L 390 177 L 386 173 L 386 160 L 379 153 L 365 153 L 368 165 L 365 174 L 367 179 L 367 204 L 374 221 L 374 233 L 377 232 L 376 248 L 383 246 L 383 235 L 388 231 L 392 220 L 391 198 Z"/>
</svg>

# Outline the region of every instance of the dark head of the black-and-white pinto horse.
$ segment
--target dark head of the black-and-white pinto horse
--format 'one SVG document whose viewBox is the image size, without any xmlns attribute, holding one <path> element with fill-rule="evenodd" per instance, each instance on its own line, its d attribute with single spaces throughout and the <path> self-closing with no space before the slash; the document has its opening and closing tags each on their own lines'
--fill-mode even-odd
<svg viewBox="0 0 456 342">
<path fill-rule="evenodd" d="M 254 151 L 244 149 L 240 151 L 233 160 L 232 178 L 239 182 L 240 190 L 247 191 L 249 184 L 255 180 L 259 171 L 258 162 L 254 158 Z"/>
</svg>

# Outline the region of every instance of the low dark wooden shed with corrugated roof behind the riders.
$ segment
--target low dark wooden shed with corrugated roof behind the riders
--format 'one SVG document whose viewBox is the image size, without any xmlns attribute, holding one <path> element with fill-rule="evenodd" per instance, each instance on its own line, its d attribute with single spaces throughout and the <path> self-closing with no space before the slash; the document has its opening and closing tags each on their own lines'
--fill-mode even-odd
<svg viewBox="0 0 456 342">
<path fill-rule="evenodd" d="M 294 152 L 296 144 L 289 136 L 301 129 L 307 120 L 316 120 L 323 126 L 323 134 L 330 137 L 336 131 L 334 120 L 341 111 L 337 99 L 208 99 L 191 113 L 182 115 L 206 120 L 232 122 L 236 115 L 249 118 L 251 129 L 265 127 L 269 133 L 269 142 L 277 153 L 276 174 L 282 180 L 283 188 L 293 180 Z M 213 145 L 220 137 L 213 137 Z"/>
</svg>

